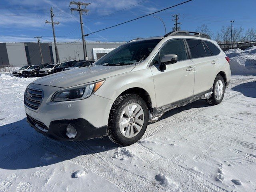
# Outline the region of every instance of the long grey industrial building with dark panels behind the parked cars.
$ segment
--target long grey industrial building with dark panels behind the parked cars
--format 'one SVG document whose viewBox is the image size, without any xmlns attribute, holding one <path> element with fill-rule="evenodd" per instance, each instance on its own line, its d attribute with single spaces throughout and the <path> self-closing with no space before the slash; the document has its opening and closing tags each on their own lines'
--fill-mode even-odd
<svg viewBox="0 0 256 192">
<path fill-rule="evenodd" d="M 89 60 L 97 60 L 104 54 L 125 42 L 86 42 Z M 40 43 L 44 63 L 56 63 L 54 43 Z M 58 42 L 60 61 L 84 59 L 82 42 Z M 0 43 L 0 66 L 21 67 L 27 64 L 40 64 L 39 44 L 36 42 Z"/>
</svg>

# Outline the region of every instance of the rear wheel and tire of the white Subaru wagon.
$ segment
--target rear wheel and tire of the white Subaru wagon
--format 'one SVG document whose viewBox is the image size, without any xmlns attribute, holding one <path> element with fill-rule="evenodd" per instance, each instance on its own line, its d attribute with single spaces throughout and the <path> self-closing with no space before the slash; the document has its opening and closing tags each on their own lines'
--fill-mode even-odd
<svg viewBox="0 0 256 192">
<path fill-rule="evenodd" d="M 206 99 L 208 104 L 220 104 L 224 98 L 225 89 L 226 85 L 223 77 L 221 75 L 217 75 L 212 86 L 212 94 Z"/>
</svg>

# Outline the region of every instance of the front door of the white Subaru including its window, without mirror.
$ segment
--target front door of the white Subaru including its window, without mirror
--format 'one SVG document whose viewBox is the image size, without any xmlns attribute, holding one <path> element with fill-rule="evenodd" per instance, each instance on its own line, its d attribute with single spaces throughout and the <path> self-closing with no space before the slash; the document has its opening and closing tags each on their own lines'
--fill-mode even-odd
<svg viewBox="0 0 256 192">
<path fill-rule="evenodd" d="M 166 65 L 166 70 L 159 69 L 164 55 L 176 54 L 178 61 Z M 182 102 L 194 94 L 194 63 L 189 59 L 183 39 L 168 41 L 152 60 L 152 71 L 156 92 L 156 106 Z"/>
</svg>

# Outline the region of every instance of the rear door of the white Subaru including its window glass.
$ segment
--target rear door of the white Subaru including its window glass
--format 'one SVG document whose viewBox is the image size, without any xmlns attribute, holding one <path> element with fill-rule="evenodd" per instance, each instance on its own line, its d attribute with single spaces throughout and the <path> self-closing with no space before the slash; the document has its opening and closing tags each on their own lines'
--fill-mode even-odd
<svg viewBox="0 0 256 192">
<path fill-rule="evenodd" d="M 190 50 L 191 60 L 195 68 L 194 95 L 204 93 L 214 83 L 219 65 L 216 56 L 213 56 L 208 47 L 198 39 L 186 39 Z"/>
</svg>

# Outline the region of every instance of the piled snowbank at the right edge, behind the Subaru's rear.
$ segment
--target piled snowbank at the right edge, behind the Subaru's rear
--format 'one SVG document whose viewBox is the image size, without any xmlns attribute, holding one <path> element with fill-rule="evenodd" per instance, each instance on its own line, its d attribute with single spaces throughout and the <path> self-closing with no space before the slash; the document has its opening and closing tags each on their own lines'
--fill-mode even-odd
<svg viewBox="0 0 256 192">
<path fill-rule="evenodd" d="M 225 54 L 230 58 L 232 75 L 256 75 L 256 46 L 246 50 L 230 49 Z"/>
</svg>

